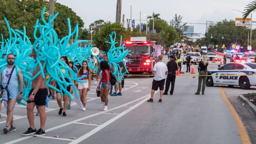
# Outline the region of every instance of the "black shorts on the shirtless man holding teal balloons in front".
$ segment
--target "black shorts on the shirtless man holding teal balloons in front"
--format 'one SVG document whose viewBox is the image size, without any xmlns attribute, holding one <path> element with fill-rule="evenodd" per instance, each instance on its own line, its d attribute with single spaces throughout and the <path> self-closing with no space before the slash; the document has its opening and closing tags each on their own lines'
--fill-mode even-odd
<svg viewBox="0 0 256 144">
<path fill-rule="evenodd" d="M 31 89 L 28 96 L 31 95 L 34 89 Z M 39 89 L 35 95 L 34 101 L 28 100 L 27 103 L 34 102 L 37 106 L 45 106 L 46 105 L 46 97 L 48 96 L 48 89 Z"/>
</svg>

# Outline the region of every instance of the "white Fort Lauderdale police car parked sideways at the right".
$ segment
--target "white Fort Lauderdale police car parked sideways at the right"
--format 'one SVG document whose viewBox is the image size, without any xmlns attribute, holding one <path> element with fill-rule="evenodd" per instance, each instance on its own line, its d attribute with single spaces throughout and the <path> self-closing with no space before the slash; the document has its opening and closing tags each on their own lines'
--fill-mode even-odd
<svg viewBox="0 0 256 144">
<path fill-rule="evenodd" d="M 206 86 L 223 84 L 230 87 L 240 86 L 241 89 L 249 89 L 250 86 L 256 86 L 256 63 L 231 62 L 222 67 L 218 66 L 217 70 L 209 70 L 208 75 L 212 76 L 207 76 Z"/>
</svg>

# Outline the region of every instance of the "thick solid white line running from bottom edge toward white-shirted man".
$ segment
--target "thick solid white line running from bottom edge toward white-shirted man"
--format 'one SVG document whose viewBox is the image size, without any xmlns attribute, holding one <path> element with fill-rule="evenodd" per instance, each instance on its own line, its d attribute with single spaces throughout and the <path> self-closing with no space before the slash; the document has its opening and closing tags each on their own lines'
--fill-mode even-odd
<svg viewBox="0 0 256 144">
<path fill-rule="evenodd" d="M 155 94 L 159 92 L 156 91 Z M 145 101 L 147 101 L 147 97 L 149 98 L 151 94 L 147 94 L 146 98 L 143 99 L 142 101 L 140 101 L 139 103 L 135 104 L 133 107 L 125 110 L 124 112 L 120 113 L 119 115 L 113 117 L 112 119 L 108 120 L 107 122 L 103 123 L 102 125 L 98 126 L 97 128 L 91 130 L 90 132 L 86 133 L 85 135 L 77 138 L 76 140 L 70 142 L 69 144 L 78 144 L 79 142 L 87 139 L 88 137 L 92 136 L 93 134 L 95 134 L 96 132 L 100 131 L 101 129 L 103 129 L 104 127 L 108 126 L 109 124 L 113 123 L 114 121 L 116 121 L 117 119 L 121 118 L 122 116 L 124 116 L 125 114 L 127 114 L 128 112 L 132 111 L 133 109 L 135 109 L 136 107 L 140 106 L 141 104 L 143 104 Z"/>
</svg>

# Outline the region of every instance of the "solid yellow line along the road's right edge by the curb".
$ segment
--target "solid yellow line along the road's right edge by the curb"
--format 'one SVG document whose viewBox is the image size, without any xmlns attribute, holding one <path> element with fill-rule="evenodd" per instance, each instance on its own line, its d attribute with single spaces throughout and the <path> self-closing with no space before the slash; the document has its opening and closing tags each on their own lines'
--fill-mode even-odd
<svg viewBox="0 0 256 144">
<path fill-rule="evenodd" d="M 227 104 L 227 106 L 230 110 L 230 113 L 232 114 L 232 116 L 234 117 L 234 119 L 236 121 L 236 125 L 237 125 L 237 128 L 238 128 L 242 143 L 243 144 L 250 144 L 251 142 L 250 142 L 248 134 L 245 130 L 244 124 L 243 124 L 242 120 L 240 119 L 240 117 L 238 116 L 238 114 L 236 113 L 236 110 L 234 109 L 234 107 L 231 105 L 231 103 L 227 99 L 227 97 L 225 95 L 225 92 L 224 92 L 222 87 L 220 87 L 220 92 L 221 92 L 223 100 L 226 102 L 226 104 Z"/>
</svg>

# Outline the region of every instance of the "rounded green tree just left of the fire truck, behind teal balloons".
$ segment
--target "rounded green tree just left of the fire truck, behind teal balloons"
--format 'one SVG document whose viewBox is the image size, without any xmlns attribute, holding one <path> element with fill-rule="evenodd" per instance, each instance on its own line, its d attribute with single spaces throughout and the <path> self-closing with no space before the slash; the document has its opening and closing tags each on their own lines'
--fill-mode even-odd
<svg viewBox="0 0 256 144">
<path fill-rule="evenodd" d="M 110 41 L 109 34 L 111 34 L 112 31 L 116 32 L 117 42 L 120 42 L 121 35 L 125 36 L 127 33 L 126 29 L 123 28 L 121 24 L 106 22 L 103 25 L 103 27 L 100 29 L 100 32 L 93 37 L 94 45 L 97 46 L 100 50 L 108 51 L 111 45 L 108 43 L 105 43 L 105 41 Z M 123 40 L 124 39 L 125 38 L 123 38 Z M 119 44 L 120 43 L 118 43 L 116 46 L 118 46 Z"/>
</svg>

